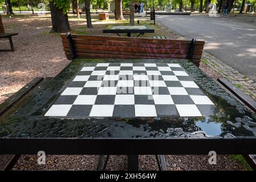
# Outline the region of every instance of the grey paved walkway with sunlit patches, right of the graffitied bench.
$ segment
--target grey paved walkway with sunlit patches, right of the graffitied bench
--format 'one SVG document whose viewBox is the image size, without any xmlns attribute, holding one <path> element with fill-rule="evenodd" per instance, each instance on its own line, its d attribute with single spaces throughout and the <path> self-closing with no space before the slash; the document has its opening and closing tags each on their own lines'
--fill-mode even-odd
<svg viewBox="0 0 256 182">
<path fill-rule="evenodd" d="M 204 39 L 205 51 L 256 81 L 256 16 L 156 15 L 186 39 Z"/>
</svg>

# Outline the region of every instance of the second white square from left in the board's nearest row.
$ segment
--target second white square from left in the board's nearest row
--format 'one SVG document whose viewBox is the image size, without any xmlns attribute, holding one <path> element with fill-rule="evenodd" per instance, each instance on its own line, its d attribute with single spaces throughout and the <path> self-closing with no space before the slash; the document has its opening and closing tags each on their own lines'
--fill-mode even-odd
<svg viewBox="0 0 256 182">
<path fill-rule="evenodd" d="M 114 105 L 93 105 L 90 117 L 111 117 Z"/>
</svg>

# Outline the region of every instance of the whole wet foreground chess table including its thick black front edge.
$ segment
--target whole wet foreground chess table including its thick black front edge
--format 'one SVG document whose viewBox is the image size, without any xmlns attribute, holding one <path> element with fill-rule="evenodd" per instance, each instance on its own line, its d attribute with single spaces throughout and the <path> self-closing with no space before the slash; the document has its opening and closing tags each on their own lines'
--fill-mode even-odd
<svg viewBox="0 0 256 182">
<path fill-rule="evenodd" d="M 255 121 L 189 60 L 76 59 L 0 118 L 0 154 L 255 154 Z"/>
</svg>

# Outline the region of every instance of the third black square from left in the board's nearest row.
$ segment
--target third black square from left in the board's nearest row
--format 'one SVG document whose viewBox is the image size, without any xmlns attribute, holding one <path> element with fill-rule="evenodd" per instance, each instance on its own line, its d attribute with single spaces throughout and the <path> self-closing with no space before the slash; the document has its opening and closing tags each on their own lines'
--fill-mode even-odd
<svg viewBox="0 0 256 182">
<path fill-rule="evenodd" d="M 158 116 L 179 116 L 175 105 L 156 105 L 156 113 Z"/>
</svg>

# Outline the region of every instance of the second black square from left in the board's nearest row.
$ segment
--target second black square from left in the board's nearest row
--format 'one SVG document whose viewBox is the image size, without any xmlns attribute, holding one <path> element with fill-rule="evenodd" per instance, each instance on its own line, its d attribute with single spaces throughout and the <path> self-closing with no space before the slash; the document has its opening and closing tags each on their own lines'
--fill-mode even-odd
<svg viewBox="0 0 256 182">
<path fill-rule="evenodd" d="M 113 117 L 132 118 L 135 117 L 134 105 L 115 105 Z"/>
</svg>

